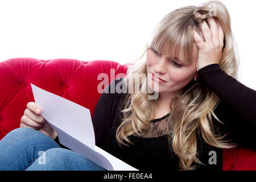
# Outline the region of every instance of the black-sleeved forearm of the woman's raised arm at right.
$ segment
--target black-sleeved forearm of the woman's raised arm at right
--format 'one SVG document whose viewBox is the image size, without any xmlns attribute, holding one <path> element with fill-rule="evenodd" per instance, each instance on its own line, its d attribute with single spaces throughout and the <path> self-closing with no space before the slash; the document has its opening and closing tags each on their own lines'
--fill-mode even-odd
<svg viewBox="0 0 256 182">
<path fill-rule="evenodd" d="M 218 64 L 198 71 L 199 81 L 205 82 L 230 108 L 256 128 L 256 91 L 226 74 Z"/>
</svg>

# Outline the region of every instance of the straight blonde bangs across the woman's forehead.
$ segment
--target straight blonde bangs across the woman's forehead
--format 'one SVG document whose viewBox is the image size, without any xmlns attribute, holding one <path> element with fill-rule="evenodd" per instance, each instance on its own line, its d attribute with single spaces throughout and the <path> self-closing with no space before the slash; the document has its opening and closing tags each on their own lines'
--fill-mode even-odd
<svg viewBox="0 0 256 182">
<path fill-rule="evenodd" d="M 185 29 L 184 29 L 185 28 Z M 188 27 L 163 28 L 152 40 L 150 47 L 174 60 L 192 62 L 194 40 Z M 181 51 L 181 52 L 180 52 Z M 179 57 L 179 53 L 183 57 Z"/>
</svg>

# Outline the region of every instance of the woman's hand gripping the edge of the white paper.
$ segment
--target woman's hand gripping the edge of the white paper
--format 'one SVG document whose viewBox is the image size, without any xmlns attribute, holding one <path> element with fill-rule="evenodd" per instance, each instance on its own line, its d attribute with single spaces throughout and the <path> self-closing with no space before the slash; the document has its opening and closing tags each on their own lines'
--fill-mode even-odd
<svg viewBox="0 0 256 182">
<path fill-rule="evenodd" d="M 40 115 L 41 112 L 42 109 L 35 102 L 28 102 L 27 109 L 24 110 L 24 115 L 20 119 L 20 127 L 38 130 L 54 140 L 57 137 L 57 132 Z"/>
</svg>

